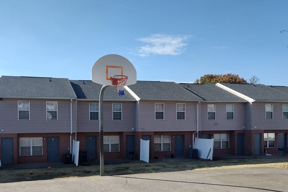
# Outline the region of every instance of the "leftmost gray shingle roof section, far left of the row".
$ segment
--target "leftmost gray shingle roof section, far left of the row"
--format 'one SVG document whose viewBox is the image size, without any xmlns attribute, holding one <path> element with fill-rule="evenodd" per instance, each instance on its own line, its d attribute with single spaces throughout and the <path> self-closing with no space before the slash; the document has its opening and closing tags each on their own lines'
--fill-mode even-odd
<svg viewBox="0 0 288 192">
<path fill-rule="evenodd" d="M 0 97 L 4 98 L 73 98 L 76 94 L 68 79 L 47 77 L 2 76 Z"/>
</svg>

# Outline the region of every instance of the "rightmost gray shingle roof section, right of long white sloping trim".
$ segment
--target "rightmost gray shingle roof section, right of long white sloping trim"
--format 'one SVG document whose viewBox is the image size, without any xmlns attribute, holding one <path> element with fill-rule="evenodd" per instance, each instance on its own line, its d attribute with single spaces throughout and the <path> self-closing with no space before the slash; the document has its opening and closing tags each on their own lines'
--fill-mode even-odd
<svg viewBox="0 0 288 192">
<path fill-rule="evenodd" d="M 277 86 L 267 85 L 253 85 L 253 84 L 234 84 L 234 83 L 220 83 L 232 90 L 235 90 L 243 95 L 246 95 L 254 100 L 271 100 L 271 101 L 287 101 L 288 88 L 279 88 Z"/>
</svg>

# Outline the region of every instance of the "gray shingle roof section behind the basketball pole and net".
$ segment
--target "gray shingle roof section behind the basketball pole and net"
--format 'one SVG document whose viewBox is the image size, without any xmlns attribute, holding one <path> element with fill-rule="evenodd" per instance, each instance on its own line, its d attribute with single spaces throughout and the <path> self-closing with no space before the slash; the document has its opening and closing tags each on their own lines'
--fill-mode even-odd
<svg viewBox="0 0 288 192">
<path fill-rule="evenodd" d="M 78 99 L 99 100 L 100 91 L 103 85 L 94 83 L 92 81 L 83 81 L 83 80 L 70 80 L 70 83 Z M 136 99 L 126 90 L 124 90 L 125 95 L 122 97 L 119 97 L 118 93 L 115 91 L 116 91 L 115 86 L 107 87 L 104 91 L 103 100 L 136 101 Z"/>
</svg>

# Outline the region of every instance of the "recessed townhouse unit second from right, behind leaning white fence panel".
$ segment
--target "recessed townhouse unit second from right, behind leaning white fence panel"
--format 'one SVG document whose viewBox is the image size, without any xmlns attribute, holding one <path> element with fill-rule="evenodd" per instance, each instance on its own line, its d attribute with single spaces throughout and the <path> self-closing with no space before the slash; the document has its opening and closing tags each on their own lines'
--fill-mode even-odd
<svg viewBox="0 0 288 192">
<path fill-rule="evenodd" d="M 247 100 L 214 84 L 180 85 L 203 99 L 199 138 L 214 138 L 213 155 L 245 155 Z"/>
</svg>

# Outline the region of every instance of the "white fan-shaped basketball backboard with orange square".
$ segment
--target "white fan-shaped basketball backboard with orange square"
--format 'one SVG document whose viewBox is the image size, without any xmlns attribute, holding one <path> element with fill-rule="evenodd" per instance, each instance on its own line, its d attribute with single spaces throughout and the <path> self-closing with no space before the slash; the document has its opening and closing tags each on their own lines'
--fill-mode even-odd
<svg viewBox="0 0 288 192">
<path fill-rule="evenodd" d="M 136 69 L 132 63 L 120 55 L 110 54 L 98 59 L 91 69 L 91 80 L 101 85 L 112 85 L 112 75 L 128 76 L 126 85 L 136 83 Z"/>
</svg>

